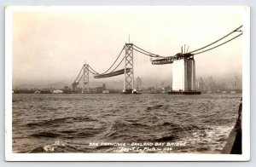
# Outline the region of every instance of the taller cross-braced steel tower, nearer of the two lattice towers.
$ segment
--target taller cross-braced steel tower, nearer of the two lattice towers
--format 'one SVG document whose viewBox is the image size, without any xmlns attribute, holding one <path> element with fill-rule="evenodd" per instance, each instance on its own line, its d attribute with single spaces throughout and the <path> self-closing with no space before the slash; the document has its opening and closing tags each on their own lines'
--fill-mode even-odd
<svg viewBox="0 0 256 167">
<path fill-rule="evenodd" d="M 127 69 L 130 69 L 129 72 Z M 131 93 L 134 89 L 133 44 L 125 43 L 125 80 L 123 93 Z"/>
</svg>

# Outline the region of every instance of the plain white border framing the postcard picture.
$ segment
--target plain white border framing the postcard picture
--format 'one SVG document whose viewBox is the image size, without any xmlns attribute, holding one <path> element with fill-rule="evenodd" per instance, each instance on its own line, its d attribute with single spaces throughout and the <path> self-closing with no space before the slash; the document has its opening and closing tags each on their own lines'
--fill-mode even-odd
<svg viewBox="0 0 256 167">
<path fill-rule="evenodd" d="M 242 55 L 242 154 L 196 153 L 12 153 L 12 20 L 17 11 L 82 11 L 172 9 L 188 12 L 241 12 Z M 143 9 L 143 10 L 142 10 Z M 11 6 L 5 11 L 5 160 L 8 161 L 248 161 L 250 159 L 250 8 L 248 6 Z"/>
</svg>

